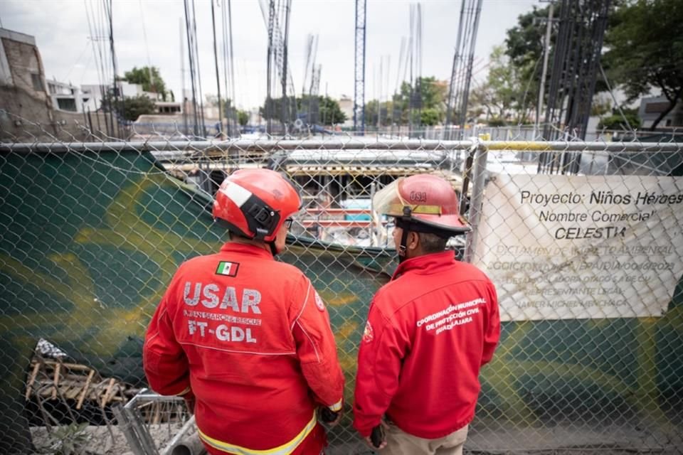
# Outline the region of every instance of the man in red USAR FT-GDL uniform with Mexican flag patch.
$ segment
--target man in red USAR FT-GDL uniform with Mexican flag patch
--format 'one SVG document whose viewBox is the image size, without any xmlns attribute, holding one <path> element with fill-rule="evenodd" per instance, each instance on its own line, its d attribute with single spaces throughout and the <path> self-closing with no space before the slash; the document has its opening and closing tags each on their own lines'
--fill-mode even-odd
<svg viewBox="0 0 683 455">
<path fill-rule="evenodd" d="M 240 170 L 216 193 L 231 231 L 215 255 L 181 264 L 149 324 L 144 370 L 153 390 L 194 402 L 211 454 L 322 454 L 317 422 L 339 422 L 344 375 L 329 314 L 285 248 L 301 199 L 275 171 Z"/>
</svg>

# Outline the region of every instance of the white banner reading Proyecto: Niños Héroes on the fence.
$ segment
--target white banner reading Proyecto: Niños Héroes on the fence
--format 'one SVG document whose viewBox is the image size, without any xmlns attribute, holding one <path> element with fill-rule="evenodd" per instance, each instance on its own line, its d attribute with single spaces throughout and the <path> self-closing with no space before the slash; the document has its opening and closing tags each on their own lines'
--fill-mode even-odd
<svg viewBox="0 0 683 455">
<path fill-rule="evenodd" d="M 683 178 L 499 175 L 475 264 L 504 321 L 662 316 L 683 274 Z"/>
</svg>

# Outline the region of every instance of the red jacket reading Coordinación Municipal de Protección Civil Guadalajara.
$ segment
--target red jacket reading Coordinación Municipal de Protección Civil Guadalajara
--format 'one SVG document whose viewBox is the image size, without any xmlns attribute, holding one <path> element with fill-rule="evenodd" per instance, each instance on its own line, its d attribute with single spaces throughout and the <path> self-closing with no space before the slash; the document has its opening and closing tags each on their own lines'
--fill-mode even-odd
<svg viewBox="0 0 683 455">
<path fill-rule="evenodd" d="M 371 303 L 358 351 L 354 427 L 364 437 L 383 414 L 435 439 L 469 424 L 479 371 L 500 336 L 496 290 L 452 251 L 407 259 Z"/>
</svg>

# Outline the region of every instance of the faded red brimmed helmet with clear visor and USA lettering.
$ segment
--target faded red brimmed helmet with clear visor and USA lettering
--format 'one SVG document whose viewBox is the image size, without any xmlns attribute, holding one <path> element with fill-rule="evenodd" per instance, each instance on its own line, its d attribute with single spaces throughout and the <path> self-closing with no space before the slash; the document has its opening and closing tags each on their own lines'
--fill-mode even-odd
<svg viewBox="0 0 683 455">
<path fill-rule="evenodd" d="M 415 230 L 455 235 L 471 229 L 460 215 L 457 195 L 450 183 L 432 174 L 396 179 L 376 193 L 373 206 L 378 213 L 416 225 Z"/>
</svg>

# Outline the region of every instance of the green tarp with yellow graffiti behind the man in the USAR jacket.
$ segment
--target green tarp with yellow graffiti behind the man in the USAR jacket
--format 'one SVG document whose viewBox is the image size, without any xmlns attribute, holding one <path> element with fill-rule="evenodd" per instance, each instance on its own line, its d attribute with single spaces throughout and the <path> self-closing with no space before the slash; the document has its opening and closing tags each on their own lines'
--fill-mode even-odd
<svg viewBox="0 0 683 455">
<path fill-rule="evenodd" d="M 226 232 L 211 200 L 166 176 L 151 156 L 12 154 L 1 157 L 0 333 L 3 401 L 23 403 L 38 338 L 129 382 L 144 380 L 144 330 L 178 265 L 217 251 Z M 90 178 L 89 178 L 90 176 Z M 355 343 L 393 255 L 290 237 L 282 259 L 305 270 L 327 301 L 352 378 Z M 360 261 L 356 261 L 361 257 Z M 13 406 L 13 410 L 21 407 Z M 18 424 L 5 414 L 0 427 Z"/>
</svg>

